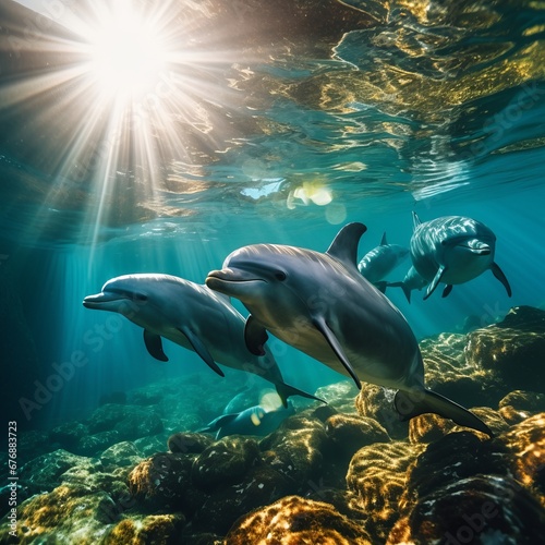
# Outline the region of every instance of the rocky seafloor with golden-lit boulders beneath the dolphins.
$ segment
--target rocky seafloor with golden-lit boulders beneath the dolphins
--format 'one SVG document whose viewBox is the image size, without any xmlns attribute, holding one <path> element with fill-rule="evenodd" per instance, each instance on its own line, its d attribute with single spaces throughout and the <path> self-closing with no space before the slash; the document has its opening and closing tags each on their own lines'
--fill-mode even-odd
<svg viewBox="0 0 545 545">
<path fill-rule="evenodd" d="M 343 380 L 266 437 L 214 440 L 194 431 L 232 392 L 169 380 L 22 434 L 16 537 L 3 488 L 0 543 L 545 543 L 545 312 L 421 348 L 427 386 L 494 438 L 434 414 L 402 423 L 388 392 Z"/>
</svg>

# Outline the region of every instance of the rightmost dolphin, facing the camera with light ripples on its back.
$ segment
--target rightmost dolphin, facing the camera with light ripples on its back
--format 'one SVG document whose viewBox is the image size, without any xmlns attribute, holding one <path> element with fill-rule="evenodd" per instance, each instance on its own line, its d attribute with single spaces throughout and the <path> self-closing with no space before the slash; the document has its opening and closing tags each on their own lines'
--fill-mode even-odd
<svg viewBox="0 0 545 545">
<path fill-rule="evenodd" d="M 494 262 L 496 235 L 484 223 L 463 216 L 444 216 L 422 223 L 414 211 L 412 216 L 412 263 L 429 282 L 424 299 L 439 282 L 447 284 L 443 291 L 446 298 L 452 291 L 452 284 L 472 280 L 486 269 L 492 270 L 511 296 L 511 287 Z"/>
</svg>

